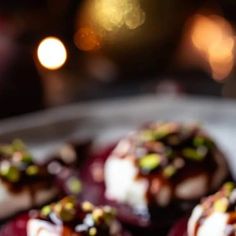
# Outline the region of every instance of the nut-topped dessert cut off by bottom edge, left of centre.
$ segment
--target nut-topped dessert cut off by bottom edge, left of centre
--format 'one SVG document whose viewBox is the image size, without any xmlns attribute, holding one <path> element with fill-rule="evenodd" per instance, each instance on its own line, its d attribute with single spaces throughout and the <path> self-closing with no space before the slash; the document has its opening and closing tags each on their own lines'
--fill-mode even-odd
<svg viewBox="0 0 236 236">
<path fill-rule="evenodd" d="M 122 236 L 114 209 L 96 207 L 90 202 L 78 204 L 68 196 L 45 206 L 27 223 L 27 236 Z"/>
</svg>

